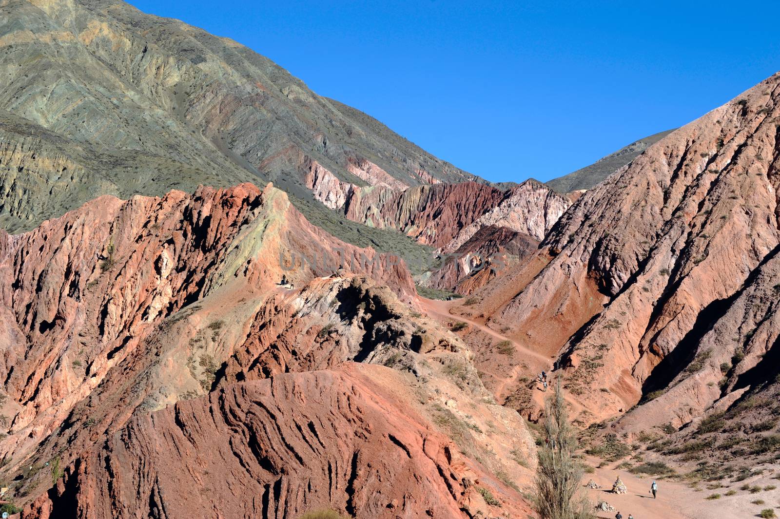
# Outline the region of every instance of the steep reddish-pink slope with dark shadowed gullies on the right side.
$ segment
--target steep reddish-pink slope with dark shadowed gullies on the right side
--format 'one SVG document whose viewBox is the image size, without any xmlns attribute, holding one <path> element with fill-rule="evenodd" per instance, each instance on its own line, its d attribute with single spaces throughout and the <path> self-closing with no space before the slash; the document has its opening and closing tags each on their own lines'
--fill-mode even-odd
<svg viewBox="0 0 780 519">
<path fill-rule="evenodd" d="M 778 79 L 672 132 L 583 194 L 537 256 L 479 292 L 469 312 L 562 355 L 586 422 L 665 390 L 629 416 L 637 427 L 682 425 L 771 379 L 756 366 L 778 348 Z M 735 351 L 745 360 L 732 366 Z"/>
</svg>

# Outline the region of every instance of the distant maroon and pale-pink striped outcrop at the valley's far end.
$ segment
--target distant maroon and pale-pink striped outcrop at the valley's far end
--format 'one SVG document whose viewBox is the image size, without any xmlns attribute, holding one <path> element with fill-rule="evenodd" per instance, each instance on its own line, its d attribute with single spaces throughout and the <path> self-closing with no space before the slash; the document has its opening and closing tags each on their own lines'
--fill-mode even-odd
<svg viewBox="0 0 780 519">
<path fill-rule="evenodd" d="M 569 198 L 529 180 L 506 192 L 475 182 L 403 192 L 352 189 L 344 211 L 350 220 L 395 228 L 437 248 L 444 264 L 423 283 L 465 294 L 493 279 L 499 265 L 530 252 L 570 205 Z M 477 274 L 488 263 L 489 274 Z"/>
</svg>

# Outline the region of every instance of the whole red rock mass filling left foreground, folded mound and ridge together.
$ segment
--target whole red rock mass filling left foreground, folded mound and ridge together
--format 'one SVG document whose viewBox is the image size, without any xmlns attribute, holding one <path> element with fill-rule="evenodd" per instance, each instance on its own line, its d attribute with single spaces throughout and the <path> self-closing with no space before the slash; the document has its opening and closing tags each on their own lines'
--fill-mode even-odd
<svg viewBox="0 0 780 519">
<path fill-rule="evenodd" d="M 24 517 L 528 511 L 494 474 L 530 482 L 513 461 L 533 466 L 530 436 L 486 403 L 463 342 L 414 311 L 403 264 L 314 228 L 270 185 L 102 197 L 2 235 L 0 277 L 0 452 Z"/>
</svg>

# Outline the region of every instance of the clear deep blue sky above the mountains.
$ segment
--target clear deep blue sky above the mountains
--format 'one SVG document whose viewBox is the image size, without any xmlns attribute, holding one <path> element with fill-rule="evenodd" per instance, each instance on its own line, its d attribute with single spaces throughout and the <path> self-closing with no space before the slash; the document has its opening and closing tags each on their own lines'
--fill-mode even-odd
<svg viewBox="0 0 780 519">
<path fill-rule="evenodd" d="M 564 175 L 780 69 L 780 2 L 131 3 L 231 37 L 497 182 Z"/>
</svg>

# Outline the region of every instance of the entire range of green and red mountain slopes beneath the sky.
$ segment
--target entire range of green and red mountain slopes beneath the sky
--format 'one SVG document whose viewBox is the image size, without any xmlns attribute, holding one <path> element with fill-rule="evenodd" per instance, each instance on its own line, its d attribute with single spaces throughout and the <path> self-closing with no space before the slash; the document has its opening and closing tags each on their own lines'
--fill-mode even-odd
<svg viewBox="0 0 780 519">
<path fill-rule="evenodd" d="M 511 185 L 123 2 L 0 1 L 0 76 L 21 517 L 526 517 L 543 370 L 588 456 L 775 467 L 780 75 Z"/>
</svg>

